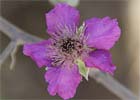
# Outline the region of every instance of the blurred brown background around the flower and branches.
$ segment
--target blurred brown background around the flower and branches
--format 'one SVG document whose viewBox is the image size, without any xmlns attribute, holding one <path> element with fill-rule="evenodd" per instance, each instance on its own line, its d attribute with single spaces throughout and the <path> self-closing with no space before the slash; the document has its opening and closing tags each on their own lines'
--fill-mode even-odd
<svg viewBox="0 0 140 100">
<path fill-rule="evenodd" d="M 77 9 L 81 14 L 81 24 L 92 17 L 117 18 L 122 35 L 111 49 L 113 62 L 117 66 L 114 78 L 137 96 L 139 93 L 139 41 L 140 2 L 139 0 L 80 0 Z M 76 5 L 77 5 L 76 4 Z M 1 16 L 27 31 L 47 39 L 45 13 L 53 8 L 47 0 L 1 0 Z M 0 32 L 0 53 L 10 39 Z M 44 68 L 22 53 L 22 46 L 16 53 L 16 65 L 9 69 L 8 57 L 0 70 L 0 96 L 3 99 L 60 99 L 50 96 L 44 80 Z M 83 80 L 73 100 L 79 99 L 119 99 L 95 80 Z"/>
</svg>

